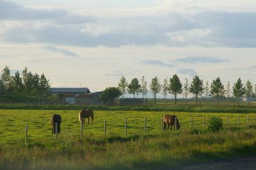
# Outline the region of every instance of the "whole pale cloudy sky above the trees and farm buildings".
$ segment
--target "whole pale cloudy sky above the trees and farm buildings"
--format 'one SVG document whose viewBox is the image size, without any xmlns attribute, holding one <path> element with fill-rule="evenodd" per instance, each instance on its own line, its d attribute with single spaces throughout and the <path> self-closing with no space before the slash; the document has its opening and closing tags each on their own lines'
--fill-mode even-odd
<svg viewBox="0 0 256 170">
<path fill-rule="evenodd" d="M 255 0 L 0 0 L 0 69 L 92 92 L 144 75 L 256 84 Z"/>
</svg>

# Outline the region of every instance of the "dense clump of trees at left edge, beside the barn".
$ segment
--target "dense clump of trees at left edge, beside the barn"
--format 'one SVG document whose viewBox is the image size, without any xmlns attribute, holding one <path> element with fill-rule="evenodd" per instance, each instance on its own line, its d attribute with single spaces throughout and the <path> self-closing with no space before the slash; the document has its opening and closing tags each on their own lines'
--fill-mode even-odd
<svg viewBox="0 0 256 170">
<path fill-rule="evenodd" d="M 49 80 L 46 79 L 44 73 L 38 75 L 24 68 L 21 75 L 17 71 L 11 75 L 10 68 L 5 66 L 0 78 L 0 94 L 20 94 L 35 97 L 42 97 L 44 93 L 49 91 Z"/>
</svg>

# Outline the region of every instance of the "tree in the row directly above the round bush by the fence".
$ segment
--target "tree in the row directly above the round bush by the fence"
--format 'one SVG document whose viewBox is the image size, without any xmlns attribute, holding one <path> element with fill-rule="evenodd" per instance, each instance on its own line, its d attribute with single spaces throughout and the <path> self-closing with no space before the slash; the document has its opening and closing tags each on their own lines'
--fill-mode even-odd
<svg viewBox="0 0 256 170">
<path fill-rule="evenodd" d="M 220 77 L 212 81 L 210 93 L 216 97 L 217 105 L 219 105 L 219 97 L 224 95 L 224 85 L 220 81 Z"/>
</svg>

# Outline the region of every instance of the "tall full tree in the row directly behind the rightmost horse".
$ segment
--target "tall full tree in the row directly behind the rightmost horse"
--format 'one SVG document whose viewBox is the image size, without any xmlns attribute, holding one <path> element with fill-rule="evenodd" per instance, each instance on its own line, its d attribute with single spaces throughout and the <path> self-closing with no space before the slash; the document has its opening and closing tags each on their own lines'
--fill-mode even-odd
<svg viewBox="0 0 256 170">
<path fill-rule="evenodd" d="M 174 104 L 177 103 L 177 94 L 182 93 L 182 84 L 177 74 L 170 78 L 169 93 L 174 95 Z"/>
</svg>

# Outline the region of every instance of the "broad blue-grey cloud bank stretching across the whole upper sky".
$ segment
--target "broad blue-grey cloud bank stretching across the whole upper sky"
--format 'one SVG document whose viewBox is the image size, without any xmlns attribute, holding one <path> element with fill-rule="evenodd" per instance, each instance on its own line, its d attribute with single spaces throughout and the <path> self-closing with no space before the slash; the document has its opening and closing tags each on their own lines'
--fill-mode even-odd
<svg viewBox="0 0 256 170">
<path fill-rule="evenodd" d="M 0 39 L 79 47 L 256 47 L 256 12 L 202 11 L 97 17 L 76 8 L 36 9 L 0 0 L 0 21 L 19 21 L 3 24 Z"/>
</svg>

